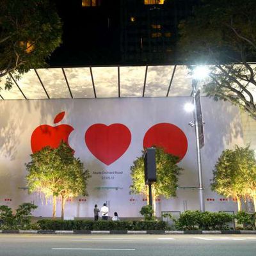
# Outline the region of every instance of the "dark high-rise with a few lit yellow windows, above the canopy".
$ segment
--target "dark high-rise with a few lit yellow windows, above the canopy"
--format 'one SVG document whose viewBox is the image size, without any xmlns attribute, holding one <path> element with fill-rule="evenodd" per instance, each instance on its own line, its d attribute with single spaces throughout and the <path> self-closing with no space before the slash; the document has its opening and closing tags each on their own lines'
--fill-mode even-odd
<svg viewBox="0 0 256 256">
<path fill-rule="evenodd" d="M 192 13 L 198 0 L 122 0 L 120 3 L 122 63 L 175 62 L 178 24 Z"/>
</svg>

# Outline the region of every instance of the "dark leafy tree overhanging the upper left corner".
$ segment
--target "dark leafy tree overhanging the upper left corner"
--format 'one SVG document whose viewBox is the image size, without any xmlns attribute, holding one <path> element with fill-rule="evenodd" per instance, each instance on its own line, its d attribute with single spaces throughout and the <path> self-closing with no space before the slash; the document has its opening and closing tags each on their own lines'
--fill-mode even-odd
<svg viewBox="0 0 256 256">
<path fill-rule="evenodd" d="M 0 79 L 12 87 L 29 68 L 45 67 L 45 58 L 61 43 L 61 22 L 49 0 L 1 0 Z"/>
</svg>

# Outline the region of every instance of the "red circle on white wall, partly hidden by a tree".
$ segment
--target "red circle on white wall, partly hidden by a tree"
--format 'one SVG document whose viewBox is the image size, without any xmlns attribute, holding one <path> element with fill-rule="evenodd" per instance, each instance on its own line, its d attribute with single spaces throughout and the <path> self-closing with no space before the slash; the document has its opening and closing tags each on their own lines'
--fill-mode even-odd
<svg viewBox="0 0 256 256">
<path fill-rule="evenodd" d="M 180 161 L 188 150 L 188 140 L 176 125 L 160 123 L 150 127 L 144 136 L 143 147 L 152 146 L 164 148 L 165 152 L 178 156 Z"/>
</svg>

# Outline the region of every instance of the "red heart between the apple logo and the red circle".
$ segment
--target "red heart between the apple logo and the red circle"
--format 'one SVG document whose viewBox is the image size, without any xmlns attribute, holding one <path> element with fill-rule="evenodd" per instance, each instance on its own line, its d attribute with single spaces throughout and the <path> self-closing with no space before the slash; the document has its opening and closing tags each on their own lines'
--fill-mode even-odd
<svg viewBox="0 0 256 256">
<path fill-rule="evenodd" d="M 84 140 L 93 156 L 109 165 L 129 147 L 131 132 L 123 124 L 93 124 L 87 129 Z"/>
</svg>

